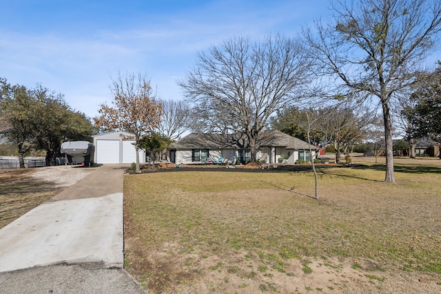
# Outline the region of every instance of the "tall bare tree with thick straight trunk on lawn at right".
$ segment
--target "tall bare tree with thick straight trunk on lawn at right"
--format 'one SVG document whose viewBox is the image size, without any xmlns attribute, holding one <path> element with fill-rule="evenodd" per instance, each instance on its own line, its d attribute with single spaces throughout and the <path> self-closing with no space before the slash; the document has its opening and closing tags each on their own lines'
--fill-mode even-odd
<svg viewBox="0 0 441 294">
<path fill-rule="evenodd" d="M 416 81 L 441 28 L 440 0 L 336 0 L 334 21 L 305 30 L 320 74 L 336 76 L 339 91 L 378 98 L 384 120 L 385 182 L 395 182 L 391 104 Z M 421 71 L 421 70 L 420 70 Z"/>
</svg>

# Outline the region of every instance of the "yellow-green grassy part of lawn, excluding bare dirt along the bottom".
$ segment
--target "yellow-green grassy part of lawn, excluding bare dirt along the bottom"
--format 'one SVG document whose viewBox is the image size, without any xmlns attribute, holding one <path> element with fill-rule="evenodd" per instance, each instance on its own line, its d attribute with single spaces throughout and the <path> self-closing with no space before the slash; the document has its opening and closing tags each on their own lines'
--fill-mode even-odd
<svg viewBox="0 0 441 294">
<path fill-rule="evenodd" d="M 369 260 L 372 270 L 439 275 L 441 167 L 397 165 L 396 170 L 397 184 L 387 184 L 382 182 L 383 165 L 319 169 L 320 200 L 311 198 L 311 171 L 125 176 L 125 238 L 136 239 L 146 252 L 176 244 L 176 256 L 200 254 L 227 261 L 245 252 L 254 272 L 265 277 L 271 271 L 285 273 L 293 259 L 311 273 L 307 258 Z M 128 254 L 130 266 L 142 254 Z M 227 262 L 212 266 L 245 275 Z M 260 291 L 271 287 L 264 283 Z"/>
</svg>

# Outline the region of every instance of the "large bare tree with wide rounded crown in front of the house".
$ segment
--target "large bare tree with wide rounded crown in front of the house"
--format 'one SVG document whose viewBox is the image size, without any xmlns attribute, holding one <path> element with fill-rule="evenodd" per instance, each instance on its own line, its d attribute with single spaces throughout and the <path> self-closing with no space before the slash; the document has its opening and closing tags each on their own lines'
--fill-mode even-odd
<svg viewBox="0 0 441 294">
<path fill-rule="evenodd" d="M 250 160 L 256 161 L 258 133 L 276 109 L 297 98 L 300 86 L 307 83 L 309 65 L 299 40 L 280 35 L 256 42 L 235 37 L 199 54 L 196 67 L 178 84 L 201 117 L 215 117 L 243 132 Z"/>
</svg>

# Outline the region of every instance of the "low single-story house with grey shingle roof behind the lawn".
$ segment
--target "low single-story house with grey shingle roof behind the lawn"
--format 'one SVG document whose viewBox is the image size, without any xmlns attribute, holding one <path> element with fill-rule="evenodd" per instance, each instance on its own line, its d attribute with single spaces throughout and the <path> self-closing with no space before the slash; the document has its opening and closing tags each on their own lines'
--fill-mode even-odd
<svg viewBox="0 0 441 294">
<path fill-rule="evenodd" d="M 296 160 L 309 161 L 309 144 L 275 129 L 261 132 L 256 142 L 257 159 L 262 163 L 277 163 L 279 158 L 287 164 Z M 192 133 L 173 143 L 170 161 L 179 164 L 205 163 L 218 158 L 236 157 L 241 163 L 249 162 L 248 139 L 243 133 Z M 314 156 L 318 148 L 312 146 Z"/>
</svg>

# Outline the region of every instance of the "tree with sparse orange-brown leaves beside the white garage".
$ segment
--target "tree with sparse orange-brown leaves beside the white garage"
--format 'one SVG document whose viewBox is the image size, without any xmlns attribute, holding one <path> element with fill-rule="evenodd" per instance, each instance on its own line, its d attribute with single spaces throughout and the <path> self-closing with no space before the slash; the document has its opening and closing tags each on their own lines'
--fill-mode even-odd
<svg viewBox="0 0 441 294">
<path fill-rule="evenodd" d="M 96 126 L 103 131 L 120 130 L 133 134 L 135 140 L 136 172 L 139 167 L 139 143 L 143 136 L 151 134 L 161 121 L 162 105 L 156 101 L 150 80 L 144 74 L 121 72 L 112 78 L 110 91 L 114 94 L 112 106 L 101 105 Z"/>
</svg>

